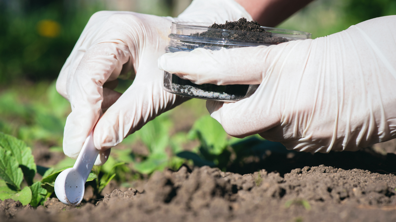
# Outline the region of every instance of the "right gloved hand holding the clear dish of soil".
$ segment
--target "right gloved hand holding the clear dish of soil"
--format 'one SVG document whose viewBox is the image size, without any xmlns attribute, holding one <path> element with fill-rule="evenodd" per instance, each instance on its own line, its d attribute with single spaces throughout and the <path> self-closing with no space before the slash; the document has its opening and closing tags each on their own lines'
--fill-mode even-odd
<svg viewBox="0 0 396 222">
<path fill-rule="evenodd" d="M 193 83 L 261 84 L 206 107 L 234 137 L 306 152 L 356 151 L 396 138 L 396 16 L 314 40 L 167 53 L 158 66 Z"/>
</svg>

